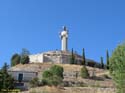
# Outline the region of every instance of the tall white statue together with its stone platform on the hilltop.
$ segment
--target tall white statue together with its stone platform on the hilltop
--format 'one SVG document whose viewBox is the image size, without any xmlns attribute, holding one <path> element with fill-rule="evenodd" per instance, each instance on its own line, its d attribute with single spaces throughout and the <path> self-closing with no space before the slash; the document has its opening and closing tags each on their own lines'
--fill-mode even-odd
<svg viewBox="0 0 125 93">
<path fill-rule="evenodd" d="M 61 63 L 69 64 L 71 60 L 72 53 L 68 50 L 68 30 L 64 26 L 63 31 L 60 33 L 61 38 L 61 50 L 48 51 L 39 54 L 30 55 L 30 63 Z M 82 56 L 77 53 L 74 53 L 75 62 L 81 64 Z M 93 60 L 86 59 L 86 61 L 94 62 Z"/>
</svg>

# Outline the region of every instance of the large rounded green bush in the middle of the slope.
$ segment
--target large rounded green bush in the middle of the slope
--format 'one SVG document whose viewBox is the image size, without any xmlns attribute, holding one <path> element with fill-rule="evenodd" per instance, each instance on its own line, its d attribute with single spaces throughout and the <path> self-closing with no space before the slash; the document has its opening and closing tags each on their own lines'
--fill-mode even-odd
<svg viewBox="0 0 125 93">
<path fill-rule="evenodd" d="M 57 86 L 62 83 L 63 80 L 63 68 L 61 66 L 54 65 L 50 70 L 46 70 L 42 74 L 42 84 Z"/>
</svg>

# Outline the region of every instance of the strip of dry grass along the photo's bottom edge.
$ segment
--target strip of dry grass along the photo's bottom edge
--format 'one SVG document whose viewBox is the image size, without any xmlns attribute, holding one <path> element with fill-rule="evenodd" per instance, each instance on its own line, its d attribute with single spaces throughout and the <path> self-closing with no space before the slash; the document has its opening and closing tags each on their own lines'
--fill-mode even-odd
<svg viewBox="0 0 125 93">
<path fill-rule="evenodd" d="M 91 87 L 39 87 L 22 93 L 115 93 L 113 88 L 91 88 Z"/>
</svg>

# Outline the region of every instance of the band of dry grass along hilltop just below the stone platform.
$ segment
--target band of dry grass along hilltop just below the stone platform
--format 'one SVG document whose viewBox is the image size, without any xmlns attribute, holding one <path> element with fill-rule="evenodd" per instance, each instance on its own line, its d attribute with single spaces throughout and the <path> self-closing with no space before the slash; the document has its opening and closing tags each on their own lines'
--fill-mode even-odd
<svg viewBox="0 0 125 93">
<path fill-rule="evenodd" d="M 11 70 L 22 70 L 22 69 L 26 69 L 26 70 L 34 70 L 34 71 L 39 71 L 41 70 L 41 68 L 49 68 L 51 67 L 52 65 L 55 65 L 55 64 L 52 64 L 52 62 L 46 62 L 46 63 L 30 63 L 30 64 L 19 64 L 19 65 L 16 65 L 14 67 L 11 68 Z M 64 68 L 64 70 L 66 71 L 80 71 L 80 69 L 82 68 L 81 65 L 72 65 L 72 64 L 56 64 L 56 65 L 60 65 Z M 31 69 L 31 68 L 34 68 L 34 69 Z M 98 68 L 93 68 L 93 67 L 88 67 L 87 66 L 87 69 L 88 70 L 95 70 L 97 72 L 104 72 L 105 70 L 103 69 L 98 69 Z"/>
</svg>

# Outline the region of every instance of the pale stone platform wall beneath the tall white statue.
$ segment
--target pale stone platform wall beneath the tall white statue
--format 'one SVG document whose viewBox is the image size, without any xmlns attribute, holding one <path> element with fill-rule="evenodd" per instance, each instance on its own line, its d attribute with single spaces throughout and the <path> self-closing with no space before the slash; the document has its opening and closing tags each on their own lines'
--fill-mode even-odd
<svg viewBox="0 0 125 93">
<path fill-rule="evenodd" d="M 53 62 L 53 63 L 61 63 L 61 64 L 69 64 L 71 53 L 68 51 L 49 51 L 45 53 L 39 53 L 35 55 L 30 55 L 30 63 L 45 63 L 45 62 Z M 75 54 L 75 60 L 78 64 L 80 64 L 82 57 L 78 54 Z"/>
</svg>

